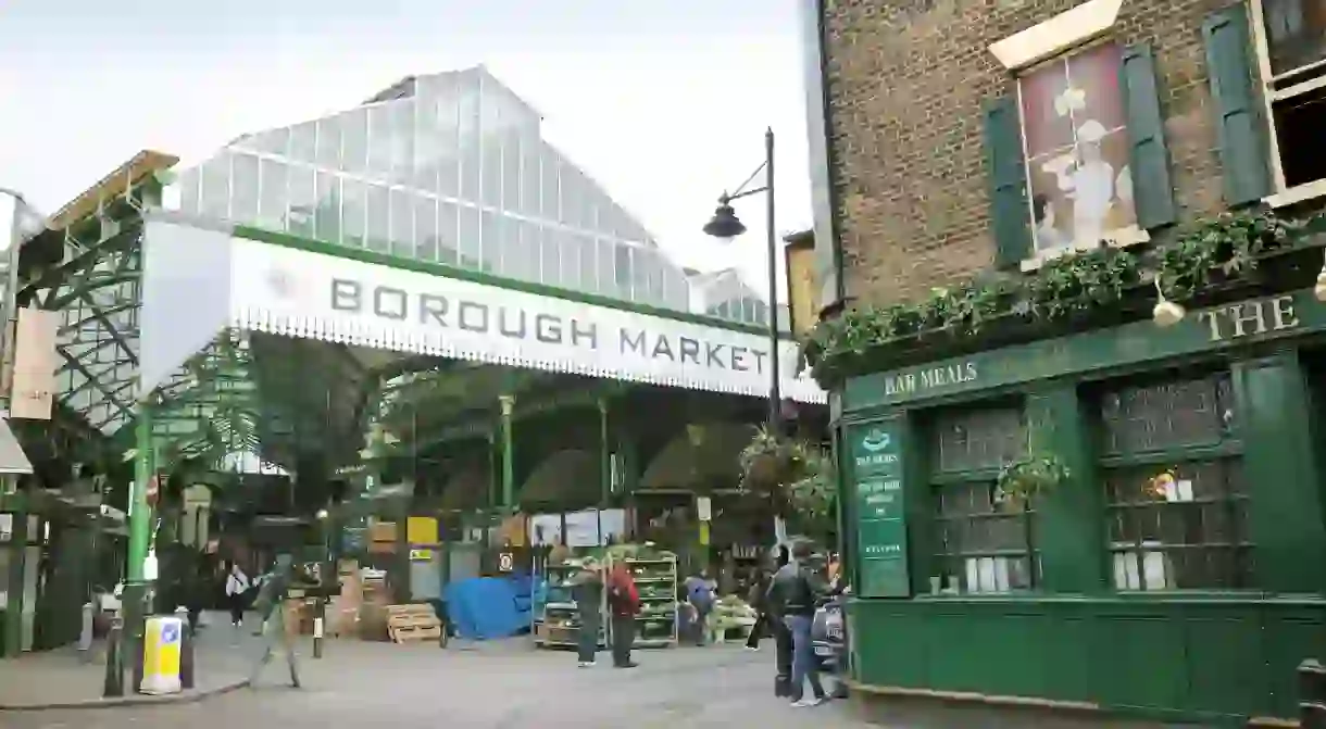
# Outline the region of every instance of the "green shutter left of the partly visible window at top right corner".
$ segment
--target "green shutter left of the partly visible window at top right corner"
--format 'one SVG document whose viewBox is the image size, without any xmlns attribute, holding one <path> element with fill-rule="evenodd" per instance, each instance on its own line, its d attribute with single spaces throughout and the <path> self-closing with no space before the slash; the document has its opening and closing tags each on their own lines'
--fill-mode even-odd
<svg viewBox="0 0 1326 729">
<path fill-rule="evenodd" d="M 1238 3 L 1207 16 L 1207 76 L 1216 111 L 1225 201 L 1241 205 L 1270 195 L 1266 127 L 1253 87 L 1253 52 L 1248 13 Z"/>
</svg>

